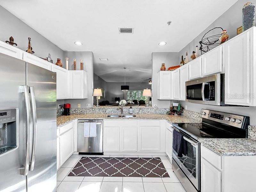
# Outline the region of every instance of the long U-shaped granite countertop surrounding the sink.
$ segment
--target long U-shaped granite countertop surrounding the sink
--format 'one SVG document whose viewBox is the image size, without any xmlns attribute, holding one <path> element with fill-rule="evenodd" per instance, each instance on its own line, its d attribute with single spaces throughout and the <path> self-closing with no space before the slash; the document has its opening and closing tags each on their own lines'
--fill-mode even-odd
<svg viewBox="0 0 256 192">
<path fill-rule="evenodd" d="M 165 114 L 134 114 L 136 117 L 120 118 L 107 117 L 110 114 L 70 114 L 69 116 L 57 116 L 57 126 L 63 125 L 74 119 L 163 119 L 170 123 L 201 123 L 186 116 L 172 116 Z"/>
</svg>

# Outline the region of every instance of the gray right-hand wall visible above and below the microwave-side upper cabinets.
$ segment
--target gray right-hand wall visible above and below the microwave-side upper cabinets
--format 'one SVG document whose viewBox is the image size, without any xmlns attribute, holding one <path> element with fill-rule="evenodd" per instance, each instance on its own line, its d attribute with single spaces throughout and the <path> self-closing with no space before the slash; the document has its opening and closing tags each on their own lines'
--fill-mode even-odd
<svg viewBox="0 0 256 192">
<path fill-rule="evenodd" d="M 248 2 L 247 0 L 239 0 L 230 7 L 225 13 L 223 13 L 217 20 L 215 20 L 208 28 L 206 28 L 200 35 L 198 35 L 193 41 L 191 41 L 187 46 L 185 46 L 180 52 L 179 57 L 181 55 L 185 55 L 185 51 L 191 52 L 195 50 L 195 46 L 199 46 L 199 41 L 201 41 L 204 34 L 214 27 L 222 27 L 223 29 L 227 29 L 229 38 L 236 36 L 236 28 L 242 25 L 242 7 L 244 4 Z M 251 1 L 255 3 L 255 1 Z M 256 107 L 220 107 L 220 106 L 208 106 L 202 104 L 194 104 L 187 103 L 185 101 L 180 102 L 181 106 L 185 107 L 187 105 L 187 109 L 190 111 L 200 112 L 202 108 L 204 109 L 212 109 L 216 111 L 223 111 L 228 113 L 235 113 L 250 116 L 250 124 L 256 125 Z"/>
</svg>

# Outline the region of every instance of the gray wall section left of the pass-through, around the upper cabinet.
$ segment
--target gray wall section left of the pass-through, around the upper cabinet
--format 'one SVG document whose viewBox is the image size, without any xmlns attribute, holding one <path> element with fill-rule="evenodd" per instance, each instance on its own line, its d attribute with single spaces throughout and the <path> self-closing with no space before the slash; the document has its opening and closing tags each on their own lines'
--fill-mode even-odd
<svg viewBox="0 0 256 192">
<path fill-rule="evenodd" d="M 73 70 L 73 59 L 76 59 L 76 70 L 80 69 L 80 59 L 83 59 L 84 70 L 88 73 L 88 99 L 66 99 L 57 100 L 57 105 L 64 103 L 70 103 L 72 108 L 77 108 L 77 104 L 81 104 L 81 108 L 86 108 L 86 104 L 93 104 L 93 53 L 92 52 L 64 52 L 64 56 L 69 58 L 68 69 Z M 64 64 L 64 62 L 63 62 Z M 65 67 L 66 64 L 63 65 Z"/>
</svg>

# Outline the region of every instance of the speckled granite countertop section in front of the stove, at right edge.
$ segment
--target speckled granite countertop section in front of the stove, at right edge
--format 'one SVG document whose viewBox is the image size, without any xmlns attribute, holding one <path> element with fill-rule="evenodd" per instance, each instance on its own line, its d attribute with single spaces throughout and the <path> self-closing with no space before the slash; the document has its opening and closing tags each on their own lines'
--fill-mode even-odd
<svg viewBox="0 0 256 192">
<path fill-rule="evenodd" d="M 256 140 L 205 138 L 198 141 L 221 156 L 256 156 Z"/>
</svg>

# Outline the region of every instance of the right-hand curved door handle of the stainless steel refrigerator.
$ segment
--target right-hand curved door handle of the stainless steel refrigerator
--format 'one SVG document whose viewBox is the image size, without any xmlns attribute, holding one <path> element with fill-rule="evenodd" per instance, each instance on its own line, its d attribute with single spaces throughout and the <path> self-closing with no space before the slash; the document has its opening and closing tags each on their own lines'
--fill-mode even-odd
<svg viewBox="0 0 256 192">
<path fill-rule="evenodd" d="M 36 154 L 36 137 L 37 137 L 37 117 L 36 117 L 36 98 L 34 87 L 29 87 L 31 94 L 31 107 L 32 107 L 32 120 L 33 120 L 33 136 L 32 136 L 32 153 L 31 153 L 31 163 L 29 171 L 33 171 L 35 167 L 35 154 Z"/>
</svg>

